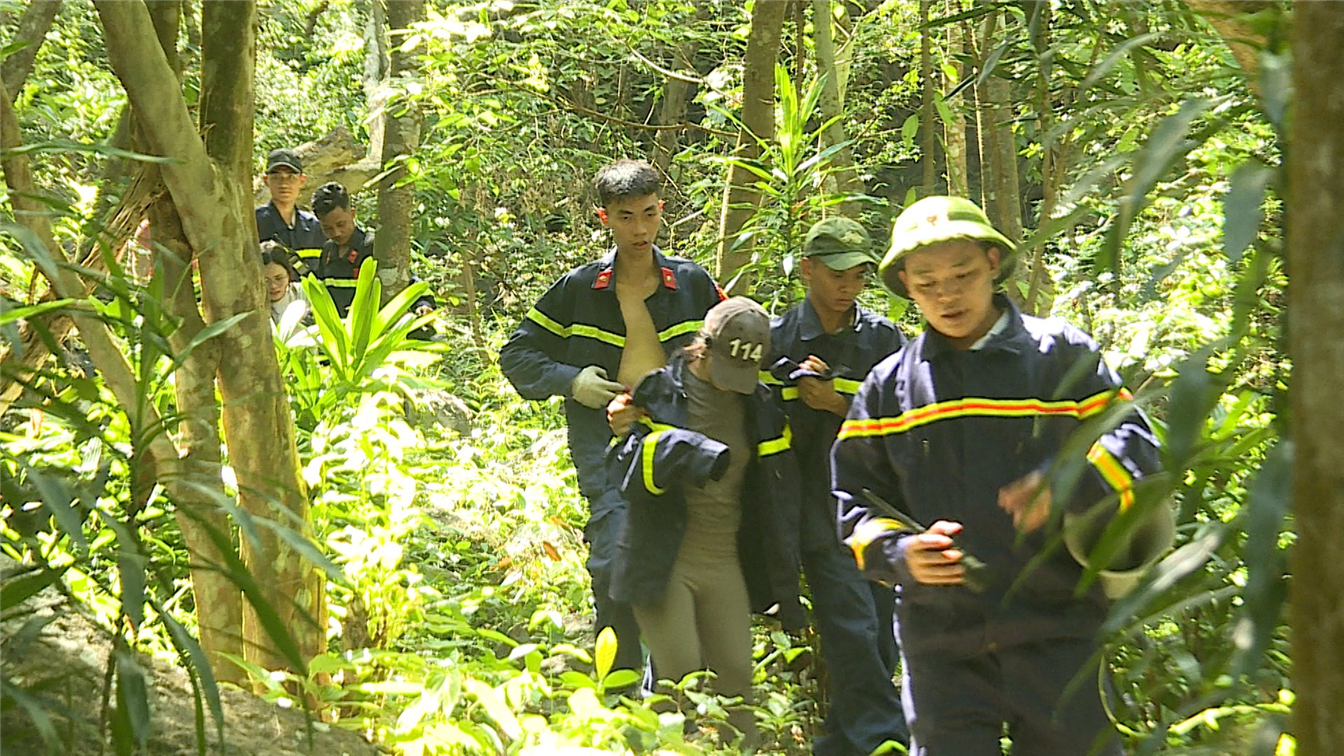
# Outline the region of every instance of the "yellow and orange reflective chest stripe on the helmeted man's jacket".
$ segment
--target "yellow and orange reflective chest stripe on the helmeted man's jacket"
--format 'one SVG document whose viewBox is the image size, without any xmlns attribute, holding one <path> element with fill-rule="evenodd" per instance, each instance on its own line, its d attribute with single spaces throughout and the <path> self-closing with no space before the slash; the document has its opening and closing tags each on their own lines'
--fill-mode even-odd
<svg viewBox="0 0 1344 756">
<path fill-rule="evenodd" d="M 939 420 L 953 420 L 957 417 L 1038 417 L 1038 416 L 1064 416 L 1086 420 L 1098 414 L 1110 405 L 1116 397 L 1133 400 L 1129 391 L 1102 391 L 1082 401 L 1047 401 L 1047 400 L 988 400 L 982 397 L 966 397 L 931 405 L 919 406 L 903 412 L 896 417 L 870 417 L 866 420 L 847 420 L 840 426 L 839 439 L 862 439 L 868 436 L 891 436 L 905 433 L 921 425 L 929 425 Z"/>
</svg>

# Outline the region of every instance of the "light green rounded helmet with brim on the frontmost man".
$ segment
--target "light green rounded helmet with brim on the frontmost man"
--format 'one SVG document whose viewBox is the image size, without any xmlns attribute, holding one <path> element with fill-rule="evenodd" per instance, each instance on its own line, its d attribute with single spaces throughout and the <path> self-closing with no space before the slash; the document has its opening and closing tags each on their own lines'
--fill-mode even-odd
<svg viewBox="0 0 1344 756">
<path fill-rule="evenodd" d="M 905 258 L 917 249 L 954 239 L 989 242 L 999 248 L 999 277 L 1003 282 L 1017 264 L 1017 245 L 999 233 L 978 204 L 960 196 L 926 196 L 906 207 L 891 230 L 891 249 L 878 265 L 878 274 L 892 293 L 909 297 L 906 285 L 896 276 Z"/>
</svg>

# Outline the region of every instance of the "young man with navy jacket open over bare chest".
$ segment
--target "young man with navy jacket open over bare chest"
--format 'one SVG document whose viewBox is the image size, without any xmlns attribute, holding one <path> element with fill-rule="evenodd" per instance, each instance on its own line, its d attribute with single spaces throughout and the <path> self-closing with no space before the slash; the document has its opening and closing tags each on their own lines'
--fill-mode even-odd
<svg viewBox="0 0 1344 756">
<path fill-rule="evenodd" d="M 628 604 L 612 600 L 612 560 L 625 518 L 606 471 L 612 441 L 605 408 L 695 336 L 704 313 L 723 299 L 699 265 L 665 257 L 655 245 L 663 221 L 652 165 L 617 160 L 598 172 L 598 217 L 616 249 L 555 282 L 528 311 L 504 348 L 500 367 L 527 400 L 563 395 L 570 455 L 589 502 L 583 537 L 597 605 L 595 630 L 610 627 L 616 667 L 641 663 L 640 631 Z M 614 378 L 614 379 L 613 379 Z"/>
</svg>

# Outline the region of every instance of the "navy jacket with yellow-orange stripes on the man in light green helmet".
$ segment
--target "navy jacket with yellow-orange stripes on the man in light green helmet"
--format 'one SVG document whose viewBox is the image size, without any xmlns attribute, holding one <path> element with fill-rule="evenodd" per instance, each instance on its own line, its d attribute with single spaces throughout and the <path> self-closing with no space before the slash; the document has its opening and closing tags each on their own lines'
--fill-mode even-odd
<svg viewBox="0 0 1344 756">
<path fill-rule="evenodd" d="M 996 304 L 1008 309 L 1008 326 L 982 350 L 957 350 L 925 330 L 879 363 L 832 452 L 841 533 L 866 574 L 899 584 L 906 651 L 974 654 L 1094 636 L 1107 611 L 1099 585 L 1075 597 L 1083 569 L 1058 543 L 1046 547 L 1052 527 L 1019 538 L 999 490 L 1054 469 L 1056 507 L 1081 511 L 1107 499 L 1126 507 L 1134 480 L 1159 468 L 1148 420 L 1097 344 L 1060 320 L 1021 315 L 1007 297 Z M 1099 437 L 1082 475 L 1064 482 L 1058 471 L 1068 465 L 1051 463 L 1085 424 Z M 900 550 L 910 535 L 862 496 L 864 488 L 925 526 L 964 523 L 957 542 L 988 565 L 989 588 L 976 595 L 914 581 Z"/>
</svg>

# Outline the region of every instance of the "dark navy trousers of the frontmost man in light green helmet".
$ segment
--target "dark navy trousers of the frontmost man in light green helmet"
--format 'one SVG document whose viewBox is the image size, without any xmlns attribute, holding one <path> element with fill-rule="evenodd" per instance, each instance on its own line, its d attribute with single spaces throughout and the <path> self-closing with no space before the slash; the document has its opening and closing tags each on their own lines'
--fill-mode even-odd
<svg viewBox="0 0 1344 756">
<path fill-rule="evenodd" d="M 970 658 L 905 652 L 911 756 L 1120 756 L 1097 687 L 1097 644 L 1051 640 Z M 1077 682 L 1075 682 L 1077 678 Z"/>
</svg>

